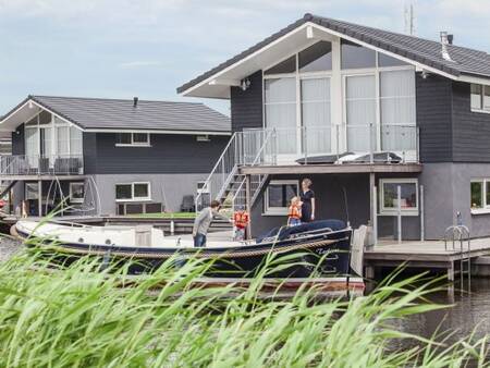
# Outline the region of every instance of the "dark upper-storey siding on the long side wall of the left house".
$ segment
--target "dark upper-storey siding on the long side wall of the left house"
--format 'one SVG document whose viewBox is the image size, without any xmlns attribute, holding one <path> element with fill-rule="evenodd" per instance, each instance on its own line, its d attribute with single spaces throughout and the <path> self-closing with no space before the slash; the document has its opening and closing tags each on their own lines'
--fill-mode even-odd
<svg viewBox="0 0 490 368">
<path fill-rule="evenodd" d="M 98 174 L 209 173 L 230 136 L 152 134 L 151 147 L 115 147 L 115 134 L 97 134 Z"/>
</svg>

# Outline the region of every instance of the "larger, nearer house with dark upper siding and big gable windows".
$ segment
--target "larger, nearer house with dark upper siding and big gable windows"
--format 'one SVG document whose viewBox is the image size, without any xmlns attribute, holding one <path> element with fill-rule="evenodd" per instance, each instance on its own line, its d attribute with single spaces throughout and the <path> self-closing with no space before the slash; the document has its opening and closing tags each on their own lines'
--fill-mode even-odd
<svg viewBox="0 0 490 368">
<path fill-rule="evenodd" d="M 378 237 L 438 240 L 456 222 L 490 235 L 490 56 L 440 36 L 305 14 L 179 87 L 231 101 L 240 155 L 211 195 L 245 197 L 253 234 L 284 224 L 309 177 L 317 218 Z"/>
</svg>

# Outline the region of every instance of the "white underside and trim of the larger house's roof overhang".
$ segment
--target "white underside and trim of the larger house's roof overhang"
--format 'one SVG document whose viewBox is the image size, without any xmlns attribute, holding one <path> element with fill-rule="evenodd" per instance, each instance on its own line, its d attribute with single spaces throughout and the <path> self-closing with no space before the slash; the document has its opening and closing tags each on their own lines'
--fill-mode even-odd
<svg viewBox="0 0 490 368">
<path fill-rule="evenodd" d="M 186 83 L 177 89 L 183 96 L 204 97 L 204 98 L 230 98 L 230 87 L 240 86 L 241 81 L 248 77 L 259 70 L 267 70 L 278 62 L 287 59 L 294 53 L 307 48 L 319 40 L 346 39 L 366 48 L 384 53 L 392 58 L 404 61 L 415 66 L 416 71 L 426 71 L 431 74 L 441 75 L 453 81 L 467 83 L 479 83 L 490 85 L 490 77 L 474 76 L 469 74 L 450 73 L 428 64 L 420 63 L 411 58 L 399 53 L 388 51 L 375 45 L 371 45 L 360 38 L 352 37 L 339 30 L 333 30 L 314 22 L 305 22 L 302 25 L 291 29 L 281 37 L 255 50 L 243 58 L 236 57 L 236 61 L 221 69 L 217 68 L 215 73 L 206 73 L 204 78 L 197 83 L 193 81 Z M 246 51 L 245 51 L 246 52 Z"/>
</svg>

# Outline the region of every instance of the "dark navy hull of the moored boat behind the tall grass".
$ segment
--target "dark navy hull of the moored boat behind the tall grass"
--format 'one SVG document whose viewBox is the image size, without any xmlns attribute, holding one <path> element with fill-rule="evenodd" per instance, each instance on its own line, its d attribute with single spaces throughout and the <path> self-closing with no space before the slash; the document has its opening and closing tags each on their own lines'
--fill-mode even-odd
<svg viewBox="0 0 490 368">
<path fill-rule="evenodd" d="M 16 230 L 21 237 L 30 234 Z M 339 231 L 314 231 L 284 240 L 233 247 L 134 247 L 78 243 L 36 242 L 52 260 L 71 263 L 84 256 L 99 257 L 101 267 L 128 265 L 132 274 L 150 273 L 171 259 L 183 267 L 189 259 L 209 260 L 204 277 L 253 278 L 267 266 L 270 278 L 339 277 L 351 273 L 350 228 Z"/>
</svg>

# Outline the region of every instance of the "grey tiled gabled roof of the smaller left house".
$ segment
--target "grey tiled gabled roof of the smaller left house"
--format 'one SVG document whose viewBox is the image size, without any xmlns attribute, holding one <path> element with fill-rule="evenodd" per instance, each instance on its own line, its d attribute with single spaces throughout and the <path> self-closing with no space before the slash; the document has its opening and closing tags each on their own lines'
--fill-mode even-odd
<svg viewBox="0 0 490 368">
<path fill-rule="evenodd" d="M 28 96 L 7 113 L 0 123 L 17 113 L 29 101 L 59 115 L 84 131 L 156 131 L 156 132 L 206 132 L 228 134 L 230 119 L 204 103 Z M 30 103 L 32 103 L 30 102 Z M 24 118 L 24 115 L 20 118 Z M 10 124 L 12 125 L 12 124 Z"/>
</svg>

